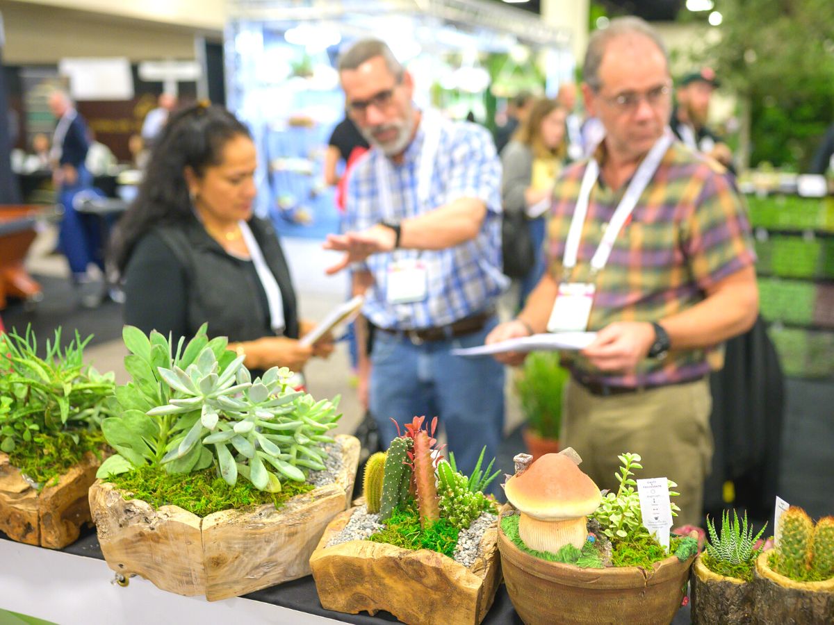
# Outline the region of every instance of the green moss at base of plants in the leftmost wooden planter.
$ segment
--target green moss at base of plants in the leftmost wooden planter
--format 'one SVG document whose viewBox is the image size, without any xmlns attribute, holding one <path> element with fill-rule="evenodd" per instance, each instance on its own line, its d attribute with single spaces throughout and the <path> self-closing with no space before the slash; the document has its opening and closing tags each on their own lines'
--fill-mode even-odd
<svg viewBox="0 0 834 625">
<path fill-rule="evenodd" d="M 78 438 L 78 443 L 73 437 Z M 20 441 L 8 458 L 13 467 L 38 483 L 41 490 L 57 484 L 58 478 L 80 463 L 85 453 L 93 452 L 101 459 L 106 447 L 100 430 L 63 430 Z"/>
</svg>

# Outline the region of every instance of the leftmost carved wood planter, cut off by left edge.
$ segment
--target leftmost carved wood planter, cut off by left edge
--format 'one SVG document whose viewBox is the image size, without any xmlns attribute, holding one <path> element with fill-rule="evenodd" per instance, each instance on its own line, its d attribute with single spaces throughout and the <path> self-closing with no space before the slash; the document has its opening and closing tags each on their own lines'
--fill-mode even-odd
<svg viewBox="0 0 834 625">
<path fill-rule="evenodd" d="M 0 531 L 12 540 L 61 549 L 78 539 L 84 523 L 92 523 L 87 501 L 101 461 L 86 453 L 81 463 L 38 491 L 0 452 Z"/>
</svg>

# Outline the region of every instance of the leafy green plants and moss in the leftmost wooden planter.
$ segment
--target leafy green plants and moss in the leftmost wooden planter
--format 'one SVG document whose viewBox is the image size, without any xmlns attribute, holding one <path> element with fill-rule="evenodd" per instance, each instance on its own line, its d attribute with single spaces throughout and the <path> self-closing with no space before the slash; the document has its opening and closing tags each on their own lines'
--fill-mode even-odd
<svg viewBox="0 0 834 625">
<path fill-rule="evenodd" d="M 43 358 L 31 328 L 0 335 L 0 451 L 37 488 L 81 461 L 100 456 L 103 418 L 113 414 L 113 373 L 83 363 L 78 332 L 65 348 L 61 328 Z"/>
</svg>

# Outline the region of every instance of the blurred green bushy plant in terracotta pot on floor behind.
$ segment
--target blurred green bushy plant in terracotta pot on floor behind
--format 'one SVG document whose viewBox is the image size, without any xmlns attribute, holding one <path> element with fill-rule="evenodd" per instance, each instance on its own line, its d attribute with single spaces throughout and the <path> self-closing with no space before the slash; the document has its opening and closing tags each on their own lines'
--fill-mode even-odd
<svg viewBox="0 0 834 625">
<path fill-rule="evenodd" d="M 533 352 L 516 373 L 515 393 L 527 427 L 524 440 L 533 458 L 559 451 L 562 396 L 570 373 L 559 364 L 558 352 Z"/>
</svg>

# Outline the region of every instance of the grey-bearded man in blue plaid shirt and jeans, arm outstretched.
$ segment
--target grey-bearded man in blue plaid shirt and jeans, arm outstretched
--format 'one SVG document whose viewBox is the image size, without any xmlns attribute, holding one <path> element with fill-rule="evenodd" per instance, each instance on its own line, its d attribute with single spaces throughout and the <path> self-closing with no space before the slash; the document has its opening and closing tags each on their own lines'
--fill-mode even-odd
<svg viewBox="0 0 834 625">
<path fill-rule="evenodd" d="M 339 78 L 371 150 L 349 173 L 348 232 L 324 248 L 344 252 L 328 272 L 351 268 L 377 328 L 370 412 L 384 444 L 397 435 L 391 419 L 438 415 L 468 472 L 481 448 L 486 458 L 498 452 L 504 420 L 504 368 L 450 353 L 484 343 L 506 285 L 495 145 L 484 128 L 416 107 L 413 79 L 384 42 L 356 42 Z M 361 349 L 362 323 L 357 334 Z"/>
</svg>

